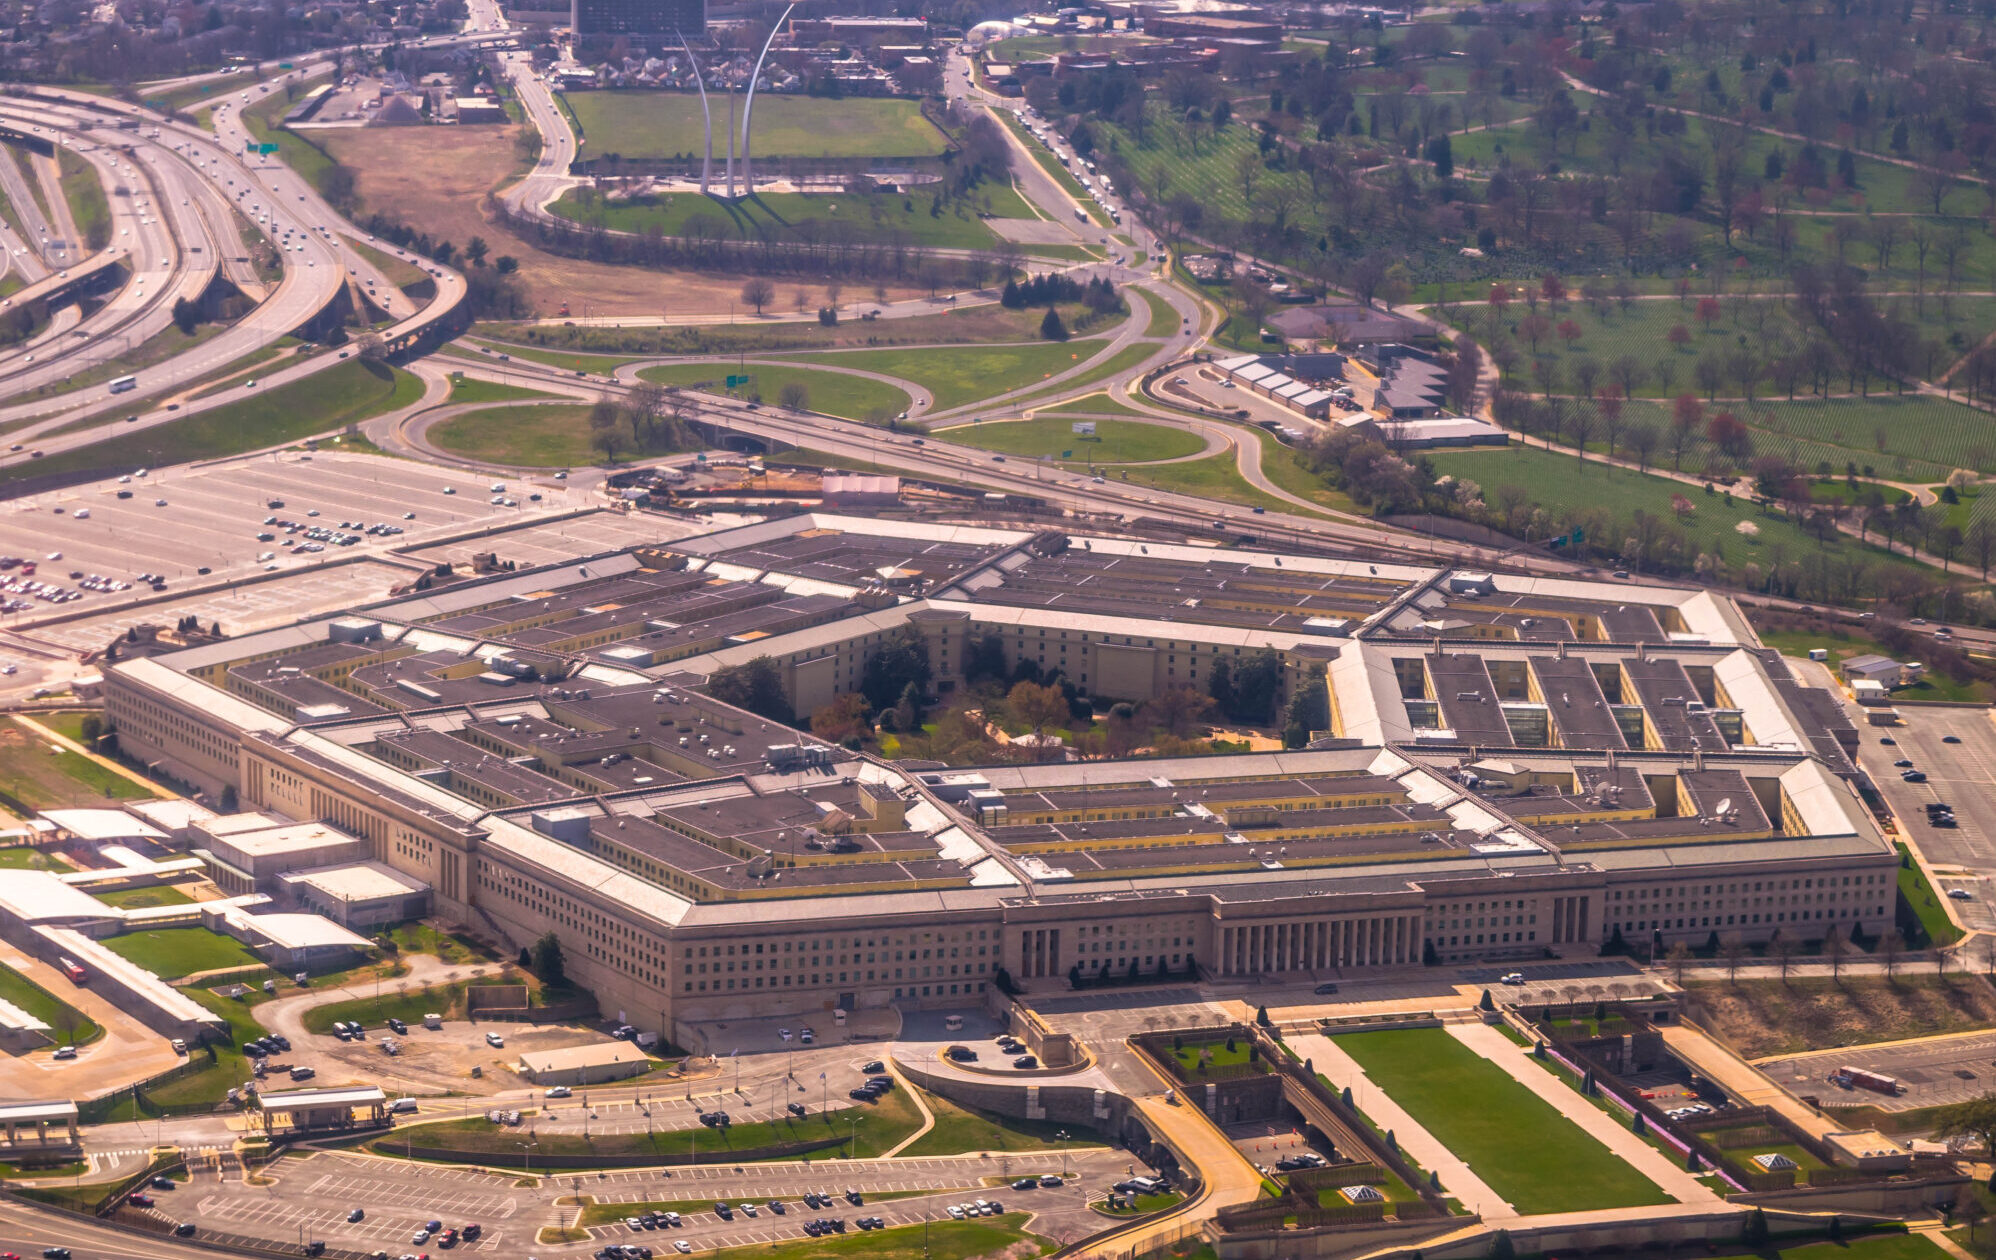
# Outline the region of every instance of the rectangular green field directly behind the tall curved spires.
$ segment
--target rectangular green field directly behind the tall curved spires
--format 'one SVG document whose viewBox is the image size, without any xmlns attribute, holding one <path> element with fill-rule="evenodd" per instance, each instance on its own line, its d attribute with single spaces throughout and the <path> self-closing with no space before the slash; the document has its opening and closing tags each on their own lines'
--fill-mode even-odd
<svg viewBox="0 0 1996 1260">
<path fill-rule="evenodd" d="M 703 152 L 701 98 L 695 92 L 569 92 L 563 102 L 587 140 L 585 158 Z M 725 100 L 709 104 L 717 114 L 727 110 Z M 715 140 L 725 142 L 719 116 L 715 126 Z M 750 134 L 754 158 L 930 158 L 942 152 L 942 132 L 922 118 L 920 106 L 878 96 L 824 100 L 762 94 Z M 717 176 L 725 152 L 721 144 Z"/>
</svg>

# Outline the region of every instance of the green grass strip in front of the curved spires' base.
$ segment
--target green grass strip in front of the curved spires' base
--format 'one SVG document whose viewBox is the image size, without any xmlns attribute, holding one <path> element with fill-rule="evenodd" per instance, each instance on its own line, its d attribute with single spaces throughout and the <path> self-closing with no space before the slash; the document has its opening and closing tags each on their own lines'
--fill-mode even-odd
<svg viewBox="0 0 1996 1260">
<path fill-rule="evenodd" d="M 1024 220 L 1032 212 L 1008 184 L 986 184 L 968 202 L 942 204 L 922 194 L 764 192 L 748 202 L 699 192 L 603 200 L 575 188 L 549 206 L 553 214 L 613 232 L 651 232 L 701 240 L 886 240 L 944 250 L 990 250 L 998 236 L 984 218 Z"/>
</svg>

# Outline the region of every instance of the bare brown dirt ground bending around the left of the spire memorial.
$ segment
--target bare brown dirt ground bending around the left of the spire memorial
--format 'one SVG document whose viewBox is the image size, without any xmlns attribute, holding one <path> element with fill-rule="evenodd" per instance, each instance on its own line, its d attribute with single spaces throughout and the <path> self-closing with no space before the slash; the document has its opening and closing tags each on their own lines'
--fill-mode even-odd
<svg viewBox="0 0 1996 1260">
<path fill-rule="evenodd" d="M 393 216 L 459 248 L 483 236 L 491 256 L 511 254 L 541 315 L 567 302 L 577 315 L 589 302 L 591 315 L 717 315 L 741 306 L 741 276 L 697 272 L 647 272 L 611 268 L 543 254 L 501 224 L 485 218 L 485 194 L 511 182 L 521 160 L 513 148 L 519 126 L 401 128 L 393 144 L 365 128 L 327 130 L 313 136 L 341 164 L 353 168 L 361 210 Z M 776 284 L 776 304 L 788 308 L 798 286 Z M 856 294 L 846 286 L 848 296 Z M 822 294 L 812 288 L 812 300 Z M 892 292 L 890 298 L 910 294 Z"/>
</svg>

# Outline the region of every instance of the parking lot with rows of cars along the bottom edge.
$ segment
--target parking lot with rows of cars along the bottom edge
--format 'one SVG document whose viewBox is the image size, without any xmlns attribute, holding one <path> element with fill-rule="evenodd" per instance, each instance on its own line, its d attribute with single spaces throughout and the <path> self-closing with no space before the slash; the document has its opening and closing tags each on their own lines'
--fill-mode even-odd
<svg viewBox="0 0 1996 1260">
<path fill-rule="evenodd" d="M 271 1184 L 251 1186 L 204 1176 L 174 1194 L 162 1194 L 160 1208 L 176 1218 L 194 1220 L 204 1230 L 291 1246 L 323 1240 L 333 1248 L 361 1252 L 379 1248 L 391 1256 L 411 1248 L 433 1250 L 435 1240 L 411 1242 L 415 1230 L 429 1220 L 459 1230 L 467 1222 L 483 1226 L 479 1238 L 457 1244 L 457 1250 L 473 1254 L 527 1254 L 527 1250 L 541 1256 L 587 1254 L 605 1242 L 639 1240 L 669 1254 L 673 1240 L 685 1240 L 705 1252 L 804 1238 L 804 1222 L 818 1216 L 844 1218 L 848 1234 L 858 1232 L 852 1228 L 858 1216 L 880 1216 L 886 1226 L 936 1222 L 948 1228 L 950 1206 L 976 1198 L 998 1200 L 1008 1212 L 1032 1212 L 1034 1232 L 1072 1240 L 1104 1228 L 1102 1218 L 1088 1210 L 1088 1198 L 1100 1198 L 1132 1168 L 1148 1172 L 1142 1164 L 1132 1164 L 1132 1156 L 1124 1150 L 1074 1148 L 1044 1154 L 703 1164 L 521 1178 L 517 1172 L 401 1166 L 367 1156 L 313 1152 L 277 1160 L 269 1168 Z M 1016 1178 L 1062 1170 L 1068 1176 L 1058 1188 L 1010 1188 Z M 854 1206 L 844 1198 L 846 1190 L 858 1190 L 862 1200 L 888 1198 Z M 828 1194 L 832 1204 L 810 1208 L 802 1202 L 804 1192 Z M 756 1214 L 737 1210 L 735 1220 L 723 1220 L 713 1210 L 717 1200 L 752 1202 Z M 784 1212 L 772 1212 L 766 1206 L 770 1200 L 780 1200 Z M 681 1204 L 681 1226 L 633 1230 L 619 1220 L 589 1226 L 587 1242 L 539 1244 L 537 1234 L 543 1226 L 575 1226 L 579 1202 Z M 349 1222 L 347 1216 L 355 1208 L 363 1216 Z"/>
</svg>

